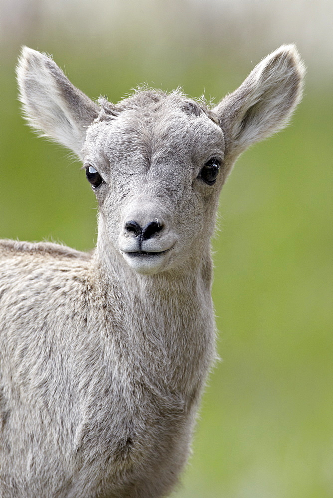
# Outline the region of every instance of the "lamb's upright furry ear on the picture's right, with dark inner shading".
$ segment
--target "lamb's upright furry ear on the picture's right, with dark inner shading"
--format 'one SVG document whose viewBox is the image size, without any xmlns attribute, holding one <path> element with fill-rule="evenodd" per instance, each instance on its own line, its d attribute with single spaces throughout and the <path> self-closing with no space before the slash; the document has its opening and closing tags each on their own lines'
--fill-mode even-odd
<svg viewBox="0 0 333 498">
<path fill-rule="evenodd" d="M 283 128 L 302 97 L 305 67 L 294 45 L 263 59 L 214 109 L 225 135 L 226 158 Z"/>
</svg>

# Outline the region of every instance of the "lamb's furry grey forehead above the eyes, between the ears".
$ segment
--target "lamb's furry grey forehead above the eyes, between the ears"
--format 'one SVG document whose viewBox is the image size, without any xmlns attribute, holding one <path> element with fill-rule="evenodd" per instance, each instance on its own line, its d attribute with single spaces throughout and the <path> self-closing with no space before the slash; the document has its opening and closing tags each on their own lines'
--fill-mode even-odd
<svg viewBox="0 0 333 498">
<path fill-rule="evenodd" d="M 208 148 L 223 152 L 220 126 L 193 101 L 164 99 L 129 106 L 87 130 L 85 152 L 92 149 L 114 159 L 133 154 L 195 154 Z"/>
</svg>

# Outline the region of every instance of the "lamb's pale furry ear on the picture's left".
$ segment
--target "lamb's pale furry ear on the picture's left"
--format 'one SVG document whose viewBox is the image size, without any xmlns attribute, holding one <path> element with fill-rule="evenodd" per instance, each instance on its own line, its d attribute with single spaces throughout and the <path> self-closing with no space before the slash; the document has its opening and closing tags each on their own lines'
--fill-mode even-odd
<svg viewBox="0 0 333 498">
<path fill-rule="evenodd" d="M 99 107 L 75 88 L 47 55 L 22 48 L 16 69 L 20 101 L 28 123 L 81 157 L 86 127 Z"/>
</svg>

